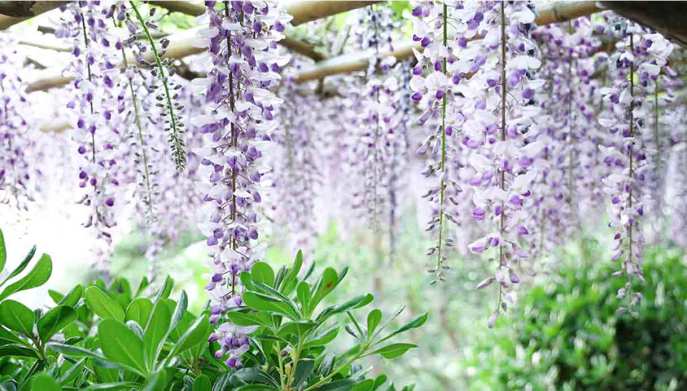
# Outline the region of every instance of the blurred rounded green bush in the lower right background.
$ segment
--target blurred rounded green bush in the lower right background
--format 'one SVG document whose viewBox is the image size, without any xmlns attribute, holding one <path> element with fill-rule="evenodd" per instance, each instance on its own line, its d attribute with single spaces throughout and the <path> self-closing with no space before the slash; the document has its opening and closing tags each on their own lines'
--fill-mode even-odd
<svg viewBox="0 0 687 391">
<path fill-rule="evenodd" d="M 598 258 L 597 258 L 598 259 Z M 623 277 L 610 262 L 563 266 L 467 354 L 471 389 L 687 389 L 687 269 L 649 251 L 642 302 L 618 311 Z"/>
</svg>

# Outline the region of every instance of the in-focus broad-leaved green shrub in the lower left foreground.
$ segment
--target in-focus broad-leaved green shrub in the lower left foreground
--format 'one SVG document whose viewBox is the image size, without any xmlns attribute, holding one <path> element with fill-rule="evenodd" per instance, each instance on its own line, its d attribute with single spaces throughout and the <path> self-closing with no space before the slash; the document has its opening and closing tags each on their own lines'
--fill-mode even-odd
<svg viewBox="0 0 687 391">
<path fill-rule="evenodd" d="M 50 277 L 47 255 L 18 277 L 34 255 L 35 248 L 0 278 L 0 288 L 14 281 L 0 290 L 0 390 L 395 390 L 385 386 L 385 375 L 368 378 L 360 360 L 403 355 L 415 345 L 391 339 L 427 319 L 389 330 L 389 321 L 373 309 L 360 322 L 354 313 L 372 303 L 370 294 L 320 309 L 346 270 L 327 268 L 310 283 L 313 267 L 300 276 L 300 253 L 293 267 L 277 273 L 258 262 L 240 276 L 245 307 L 228 314 L 255 328 L 244 366 L 234 370 L 213 354 L 219 345 L 208 338 L 208 310 L 190 313 L 183 291 L 172 300 L 170 278 L 150 294 L 146 279 L 134 290 L 123 278 L 77 285 L 66 294 L 50 291 L 55 306 L 47 310 L 9 299 Z M 6 259 L 0 231 L 0 273 Z M 341 330 L 355 342 L 336 353 L 331 343 Z"/>
</svg>

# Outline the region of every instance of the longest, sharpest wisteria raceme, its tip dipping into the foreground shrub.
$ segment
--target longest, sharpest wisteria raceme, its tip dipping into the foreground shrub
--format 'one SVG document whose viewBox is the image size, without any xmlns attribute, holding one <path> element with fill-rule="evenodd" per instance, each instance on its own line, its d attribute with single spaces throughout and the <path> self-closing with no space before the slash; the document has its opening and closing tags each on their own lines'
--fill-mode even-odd
<svg viewBox="0 0 687 391">
<path fill-rule="evenodd" d="M 211 321 L 222 321 L 229 309 L 241 305 L 239 274 L 256 259 L 258 206 L 262 200 L 262 145 L 269 142 L 281 103 L 271 91 L 280 80 L 288 57 L 277 52 L 288 17 L 271 1 L 207 2 L 210 27 L 208 52 L 213 67 L 196 82 L 212 112 L 201 118 L 207 142 L 201 164 L 207 172 L 204 209 L 213 275 L 207 286 L 212 298 Z M 247 349 L 242 330 L 222 326 L 213 339 L 220 342 L 218 357 L 240 366 Z"/>
</svg>

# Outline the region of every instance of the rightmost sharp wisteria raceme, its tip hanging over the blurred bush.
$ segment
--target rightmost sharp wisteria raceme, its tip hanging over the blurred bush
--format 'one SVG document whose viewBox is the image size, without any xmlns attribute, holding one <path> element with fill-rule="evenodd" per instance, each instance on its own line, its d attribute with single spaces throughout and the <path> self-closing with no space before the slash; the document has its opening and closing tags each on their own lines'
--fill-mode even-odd
<svg viewBox="0 0 687 391">
<path fill-rule="evenodd" d="M 604 180 L 610 199 L 614 230 L 613 259 L 622 262 L 618 273 L 642 279 L 643 233 L 640 221 L 648 205 L 645 184 L 650 175 L 645 138 L 650 105 L 646 99 L 654 93 L 661 68 L 672 51 L 672 44 L 659 34 L 647 34 L 643 28 L 624 19 L 612 21 L 619 39 L 617 51 L 609 57 L 613 85 L 605 90 L 606 112 L 599 123 L 613 135 L 613 144 L 604 149 L 604 162 L 613 172 Z M 631 282 L 618 292 L 637 302 L 641 295 L 629 295 Z"/>
</svg>

